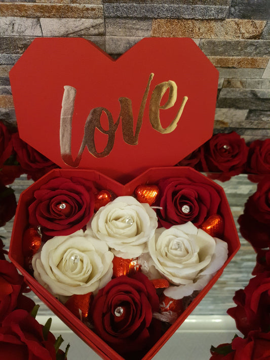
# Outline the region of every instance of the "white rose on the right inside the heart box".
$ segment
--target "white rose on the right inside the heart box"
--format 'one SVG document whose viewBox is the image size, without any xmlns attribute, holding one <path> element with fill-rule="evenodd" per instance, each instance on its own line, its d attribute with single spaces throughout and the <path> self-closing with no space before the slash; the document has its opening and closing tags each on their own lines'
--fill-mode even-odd
<svg viewBox="0 0 270 360">
<path fill-rule="evenodd" d="M 160 273 L 176 286 L 165 289 L 173 299 L 201 291 L 227 259 L 227 243 L 191 222 L 158 229 L 149 253 Z"/>
</svg>

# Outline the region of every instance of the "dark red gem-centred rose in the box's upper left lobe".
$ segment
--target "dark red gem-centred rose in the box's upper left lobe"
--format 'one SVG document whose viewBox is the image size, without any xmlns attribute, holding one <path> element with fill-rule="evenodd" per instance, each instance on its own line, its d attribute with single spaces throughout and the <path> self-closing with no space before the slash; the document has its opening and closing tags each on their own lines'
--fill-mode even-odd
<svg viewBox="0 0 270 360">
<path fill-rule="evenodd" d="M 91 181 L 79 177 L 58 177 L 34 192 L 29 206 L 29 223 L 41 226 L 49 236 L 69 235 L 82 229 L 94 213 L 94 193 Z"/>
</svg>

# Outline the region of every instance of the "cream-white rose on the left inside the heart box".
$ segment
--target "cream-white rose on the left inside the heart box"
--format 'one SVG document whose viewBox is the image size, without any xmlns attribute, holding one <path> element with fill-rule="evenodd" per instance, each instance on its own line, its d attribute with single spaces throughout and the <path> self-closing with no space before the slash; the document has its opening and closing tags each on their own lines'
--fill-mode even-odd
<svg viewBox="0 0 270 360">
<path fill-rule="evenodd" d="M 106 243 L 79 230 L 55 236 L 32 259 L 34 277 L 55 296 L 87 294 L 112 276 L 113 254 Z"/>
</svg>

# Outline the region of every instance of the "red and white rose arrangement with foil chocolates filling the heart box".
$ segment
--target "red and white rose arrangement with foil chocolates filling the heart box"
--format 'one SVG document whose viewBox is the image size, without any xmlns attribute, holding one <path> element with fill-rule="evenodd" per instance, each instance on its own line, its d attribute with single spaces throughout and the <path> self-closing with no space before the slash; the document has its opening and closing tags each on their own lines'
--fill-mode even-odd
<svg viewBox="0 0 270 360">
<path fill-rule="evenodd" d="M 147 351 L 162 322 L 173 323 L 227 258 L 213 187 L 186 178 L 153 187 L 151 195 L 115 197 L 89 180 L 55 178 L 29 206 L 29 226 L 43 235 L 27 253 L 34 277 L 124 356 Z M 213 216 L 220 226 L 211 236 L 204 230 Z"/>
</svg>

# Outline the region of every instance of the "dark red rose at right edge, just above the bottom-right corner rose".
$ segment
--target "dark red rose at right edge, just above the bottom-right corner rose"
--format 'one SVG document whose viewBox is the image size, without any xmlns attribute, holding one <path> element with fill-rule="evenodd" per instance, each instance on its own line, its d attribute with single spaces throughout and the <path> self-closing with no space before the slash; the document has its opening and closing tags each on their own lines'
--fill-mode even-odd
<svg viewBox="0 0 270 360">
<path fill-rule="evenodd" d="M 252 330 L 270 330 L 270 272 L 262 272 L 251 278 L 243 290 L 236 291 L 236 307 L 227 313 L 236 321 L 239 331 L 245 336 Z"/>
</svg>

